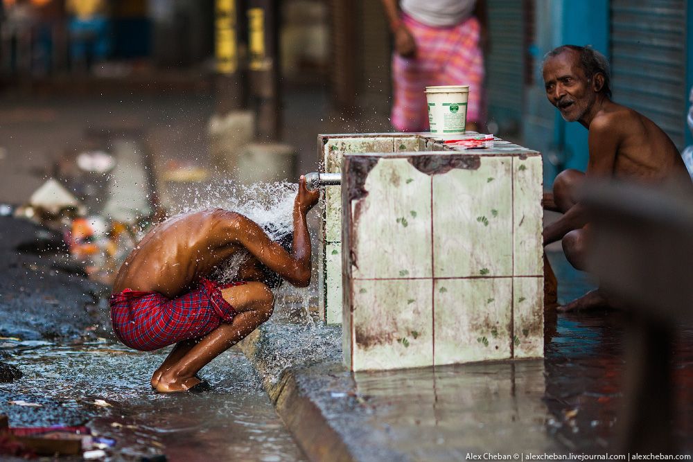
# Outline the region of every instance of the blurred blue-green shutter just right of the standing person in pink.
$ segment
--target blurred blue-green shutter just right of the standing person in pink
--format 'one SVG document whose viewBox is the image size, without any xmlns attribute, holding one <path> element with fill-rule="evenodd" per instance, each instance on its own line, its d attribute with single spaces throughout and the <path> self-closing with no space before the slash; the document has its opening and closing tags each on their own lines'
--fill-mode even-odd
<svg viewBox="0 0 693 462">
<path fill-rule="evenodd" d="M 523 1 L 488 0 L 491 53 L 486 55 L 489 121 L 503 136 L 517 133 L 523 113 L 525 29 Z"/>
</svg>

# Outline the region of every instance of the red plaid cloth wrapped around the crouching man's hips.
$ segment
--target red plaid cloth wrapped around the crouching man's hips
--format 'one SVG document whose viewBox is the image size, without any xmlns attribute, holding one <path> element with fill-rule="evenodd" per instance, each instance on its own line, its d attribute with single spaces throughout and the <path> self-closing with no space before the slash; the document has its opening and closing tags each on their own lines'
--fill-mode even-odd
<svg viewBox="0 0 693 462">
<path fill-rule="evenodd" d="M 204 337 L 220 323 L 234 319 L 236 310 L 221 290 L 241 284 L 245 283 L 222 285 L 202 278 L 195 290 L 177 299 L 125 289 L 109 300 L 113 330 L 123 344 L 141 351 Z"/>
</svg>

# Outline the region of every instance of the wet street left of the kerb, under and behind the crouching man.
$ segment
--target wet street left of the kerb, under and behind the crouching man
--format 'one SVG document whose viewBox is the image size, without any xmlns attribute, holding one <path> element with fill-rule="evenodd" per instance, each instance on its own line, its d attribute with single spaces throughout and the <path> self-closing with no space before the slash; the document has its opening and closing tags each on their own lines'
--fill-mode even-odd
<svg viewBox="0 0 693 462">
<path fill-rule="evenodd" d="M 109 289 L 80 273 L 62 236 L 10 217 L 0 235 L 0 414 L 12 427 L 87 425 L 116 441 L 111 460 L 304 460 L 243 353 L 203 369 L 210 393 L 159 395 L 149 379 L 168 349 L 114 340 Z"/>
</svg>

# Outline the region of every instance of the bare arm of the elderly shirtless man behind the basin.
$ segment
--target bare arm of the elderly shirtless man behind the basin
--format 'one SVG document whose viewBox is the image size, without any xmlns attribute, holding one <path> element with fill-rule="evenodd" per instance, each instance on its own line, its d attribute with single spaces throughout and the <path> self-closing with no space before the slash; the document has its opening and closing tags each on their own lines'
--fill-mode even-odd
<svg viewBox="0 0 693 462">
<path fill-rule="evenodd" d="M 613 176 L 619 134 L 617 127 L 606 116 L 595 118 L 590 124 L 588 146 L 590 160 L 586 176 L 590 178 Z M 543 230 L 544 245 L 563 239 L 563 236 L 574 229 L 580 229 L 587 224 L 584 207 L 577 202 L 561 217 L 546 226 Z"/>
</svg>

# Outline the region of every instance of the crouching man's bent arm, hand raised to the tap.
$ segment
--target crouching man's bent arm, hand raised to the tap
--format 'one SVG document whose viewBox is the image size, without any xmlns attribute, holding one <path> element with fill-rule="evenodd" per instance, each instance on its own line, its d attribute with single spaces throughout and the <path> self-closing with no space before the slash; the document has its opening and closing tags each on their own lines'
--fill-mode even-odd
<svg viewBox="0 0 693 462">
<path fill-rule="evenodd" d="M 254 221 L 238 213 L 228 212 L 224 224 L 231 242 L 243 245 L 263 265 L 279 274 L 292 285 L 306 287 L 310 283 L 310 234 L 306 214 L 319 199 L 319 190 L 306 189 L 306 179 L 301 176 L 299 192 L 294 202 L 294 240 L 292 254 L 278 242 L 271 240 Z"/>
</svg>

